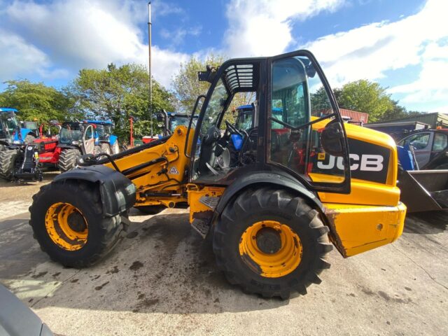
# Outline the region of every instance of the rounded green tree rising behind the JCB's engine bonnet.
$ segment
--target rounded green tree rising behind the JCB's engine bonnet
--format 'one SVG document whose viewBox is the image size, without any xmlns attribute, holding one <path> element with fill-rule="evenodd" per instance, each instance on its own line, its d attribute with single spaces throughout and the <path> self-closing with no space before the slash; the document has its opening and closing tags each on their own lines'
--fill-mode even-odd
<svg viewBox="0 0 448 336">
<path fill-rule="evenodd" d="M 377 121 L 387 111 L 393 110 L 391 95 L 379 83 L 356 80 L 341 88 L 338 104 L 343 109 L 369 113 L 369 122 Z"/>
</svg>

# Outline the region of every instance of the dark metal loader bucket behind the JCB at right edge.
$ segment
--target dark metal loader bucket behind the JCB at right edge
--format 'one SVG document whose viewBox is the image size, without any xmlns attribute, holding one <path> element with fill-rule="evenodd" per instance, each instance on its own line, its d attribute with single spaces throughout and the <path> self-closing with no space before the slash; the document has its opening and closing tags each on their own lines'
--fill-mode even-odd
<svg viewBox="0 0 448 336">
<path fill-rule="evenodd" d="M 415 170 L 400 174 L 398 187 L 407 212 L 448 209 L 448 170 Z"/>
</svg>

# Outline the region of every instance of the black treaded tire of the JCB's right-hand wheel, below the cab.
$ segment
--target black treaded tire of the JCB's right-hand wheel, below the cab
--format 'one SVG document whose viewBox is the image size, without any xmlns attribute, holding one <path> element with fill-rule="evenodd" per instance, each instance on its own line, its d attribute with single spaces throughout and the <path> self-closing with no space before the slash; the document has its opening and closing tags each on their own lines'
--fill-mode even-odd
<svg viewBox="0 0 448 336">
<path fill-rule="evenodd" d="M 255 272 L 256 263 L 255 267 L 248 267 L 240 255 L 243 233 L 260 221 L 278 221 L 300 238 L 302 259 L 289 274 L 262 276 L 260 271 Z M 309 207 L 301 197 L 272 188 L 246 190 L 225 207 L 214 230 L 213 249 L 218 268 L 223 270 L 230 283 L 241 286 L 246 293 L 286 300 L 290 293 L 304 295 L 311 283 L 321 283 L 318 274 L 330 267 L 325 260 L 325 255 L 332 250 L 328 231 L 318 211 Z M 297 246 L 297 241 L 295 244 Z"/>
</svg>

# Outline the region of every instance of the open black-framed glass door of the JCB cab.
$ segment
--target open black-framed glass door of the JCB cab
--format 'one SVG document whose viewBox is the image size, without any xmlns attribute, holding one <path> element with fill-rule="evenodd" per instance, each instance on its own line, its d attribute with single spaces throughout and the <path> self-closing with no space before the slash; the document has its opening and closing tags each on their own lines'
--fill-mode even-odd
<svg viewBox="0 0 448 336">
<path fill-rule="evenodd" d="M 267 164 L 311 190 L 350 193 L 349 148 L 337 102 L 311 52 L 267 64 Z"/>
</svg>

